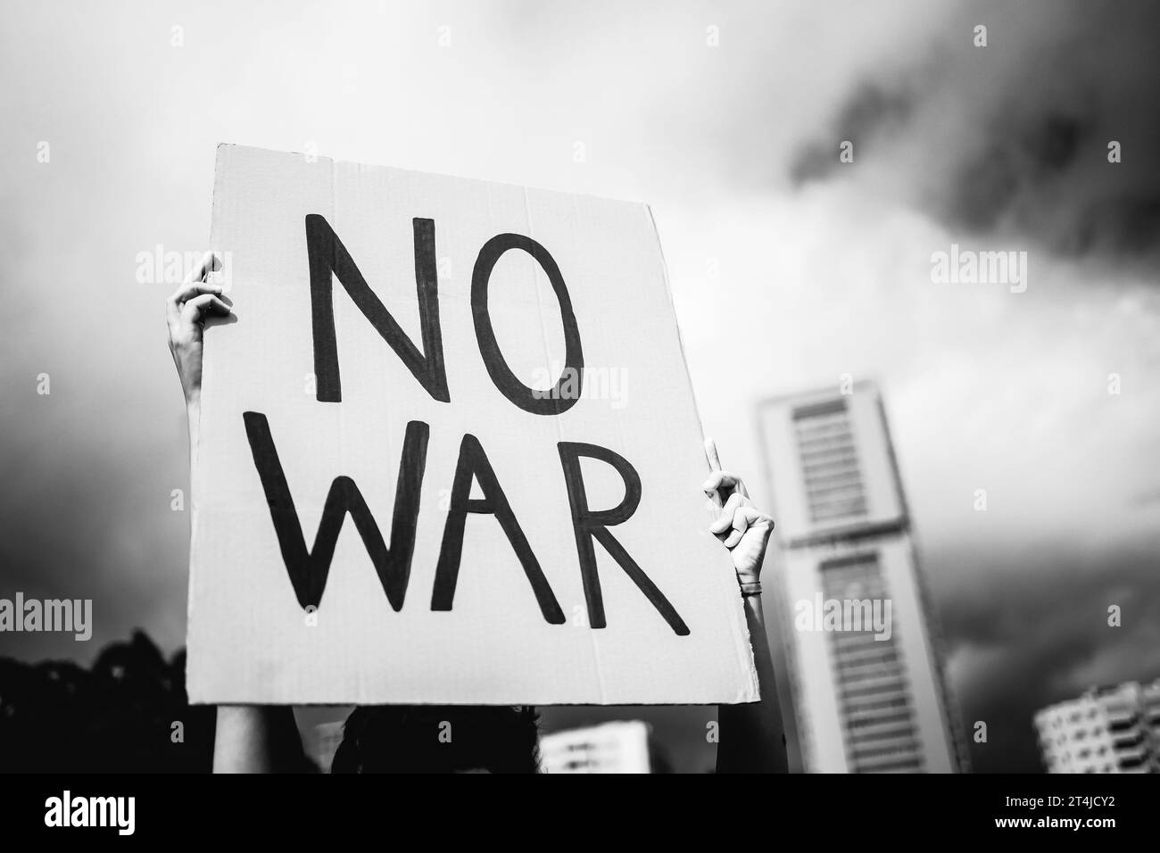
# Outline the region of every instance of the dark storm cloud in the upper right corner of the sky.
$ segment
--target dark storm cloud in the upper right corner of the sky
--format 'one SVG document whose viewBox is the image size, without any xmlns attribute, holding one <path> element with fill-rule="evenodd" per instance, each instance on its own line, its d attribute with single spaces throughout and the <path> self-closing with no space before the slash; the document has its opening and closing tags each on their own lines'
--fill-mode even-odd
<svg viewBox="0 0 1160 853">
<path fill-rule="evenodd" d="M 862 168 L 897 176 L 949 227 L 1154 262 L 1160 118 L 1144 104 L 1160 96 L 1158 34 L 1153 2 L 972 6 L 909 68 L 853 84 L 791 157 L 790 181 L 854 174 L 838 161 L 836 140 L 850 139 Z"/>
</svg>

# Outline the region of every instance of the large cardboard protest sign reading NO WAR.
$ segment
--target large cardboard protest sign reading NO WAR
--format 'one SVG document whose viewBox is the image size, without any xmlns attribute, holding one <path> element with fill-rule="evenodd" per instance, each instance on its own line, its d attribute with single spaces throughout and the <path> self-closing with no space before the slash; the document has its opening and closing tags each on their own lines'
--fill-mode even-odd
<svg viewBox="0 0 1160 853">
<path fill-rule="evenodd" d="M 189 694 L 748 702 L 643 204 L 218 149 Z"/>
</svg>

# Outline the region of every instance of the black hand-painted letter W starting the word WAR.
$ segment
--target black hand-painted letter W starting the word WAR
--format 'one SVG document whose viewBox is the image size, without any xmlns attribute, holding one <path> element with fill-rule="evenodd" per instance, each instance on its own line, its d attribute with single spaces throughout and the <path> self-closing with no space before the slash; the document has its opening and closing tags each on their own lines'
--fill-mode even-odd
<svg viewBox="0 0 1160 853">
<path fill-rule="evenodd" d="M 266 503 L 270 507 L 282 559 L 303 609 L 311 605 L 318 607 L 322 600 L 326 576 L 331 572 L 334 547 L 339 541 L 339 533 L 342 530 L 347 513 L 354 519 L 355 528 L 370 555 L 387 601 L 396 612 L 401 609 L 403 599 L 407 594 L 407 581 L 411 578 L 419 499 L 423 470 L 427 467 L 427 439 L 430 434 L 427 424 L 419 420 L 407 424 L 407 433 L 403 441 L 403 460 L 399 463 L 399 480 L 394 491 L 390 549 L 383 544 L 383 535 L 375 523 L 375 516 L 371 515 L 355 482 L 349 477 L 335 477 L 322 506 L 322 520 L 314 535 L 314 547 L 307 551 L 293 498 L 290 497 L 290 486 L 287 485 L 278 451 L 270 435 L 270 425 L 266 415 L 260 412 L 244 412 L 241 417 L 246 424 L 249 450 L 254 455 L 254 467 L 258 468 L 258 476 L 266 492 Z"/>
</svg>

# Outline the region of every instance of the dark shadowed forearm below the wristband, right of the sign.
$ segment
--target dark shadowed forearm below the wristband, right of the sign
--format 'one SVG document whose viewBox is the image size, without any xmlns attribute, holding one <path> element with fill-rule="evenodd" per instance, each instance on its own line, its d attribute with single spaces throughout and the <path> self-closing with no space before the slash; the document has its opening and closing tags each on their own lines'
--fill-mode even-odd
<svg viewBox="0 0 1160 853">
<path fill-rule="evenodd" d="M 761 701 L 718 706 L 717 772 L 785 773 L 788 761 L 782 735 L 782 713 L 777 702 L 774 658 L 766 637 L 761 595 L 747 595 L 744 601 Z"/>
</svg>

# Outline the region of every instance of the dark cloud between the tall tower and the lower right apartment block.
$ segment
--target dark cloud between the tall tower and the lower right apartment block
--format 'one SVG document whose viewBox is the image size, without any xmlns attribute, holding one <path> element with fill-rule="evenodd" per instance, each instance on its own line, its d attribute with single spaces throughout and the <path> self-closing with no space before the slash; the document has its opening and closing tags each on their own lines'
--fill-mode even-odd
<svg viewBox="0 0 1160 853">
<path fill-rule="evenodd" d="M 976 771 L 1041 771 L 1037 710 L 1101 684 L 1160 677 L 1160 655 L 1140 656 L 1160 638 L 1157 544 L 1085 552 L 1038 543 L 1002 562 L 983 556 L 988 566 L 974 550 L 931 551 L 950 576 L 976 579 L 940 608 L 948 653 L 978 662 L 956 685 L 967 733 L 987 723 L 987 742 L 971 742 Z M 1108 623 L 1111 605 L 1118 627 Z"/>
</svg>

